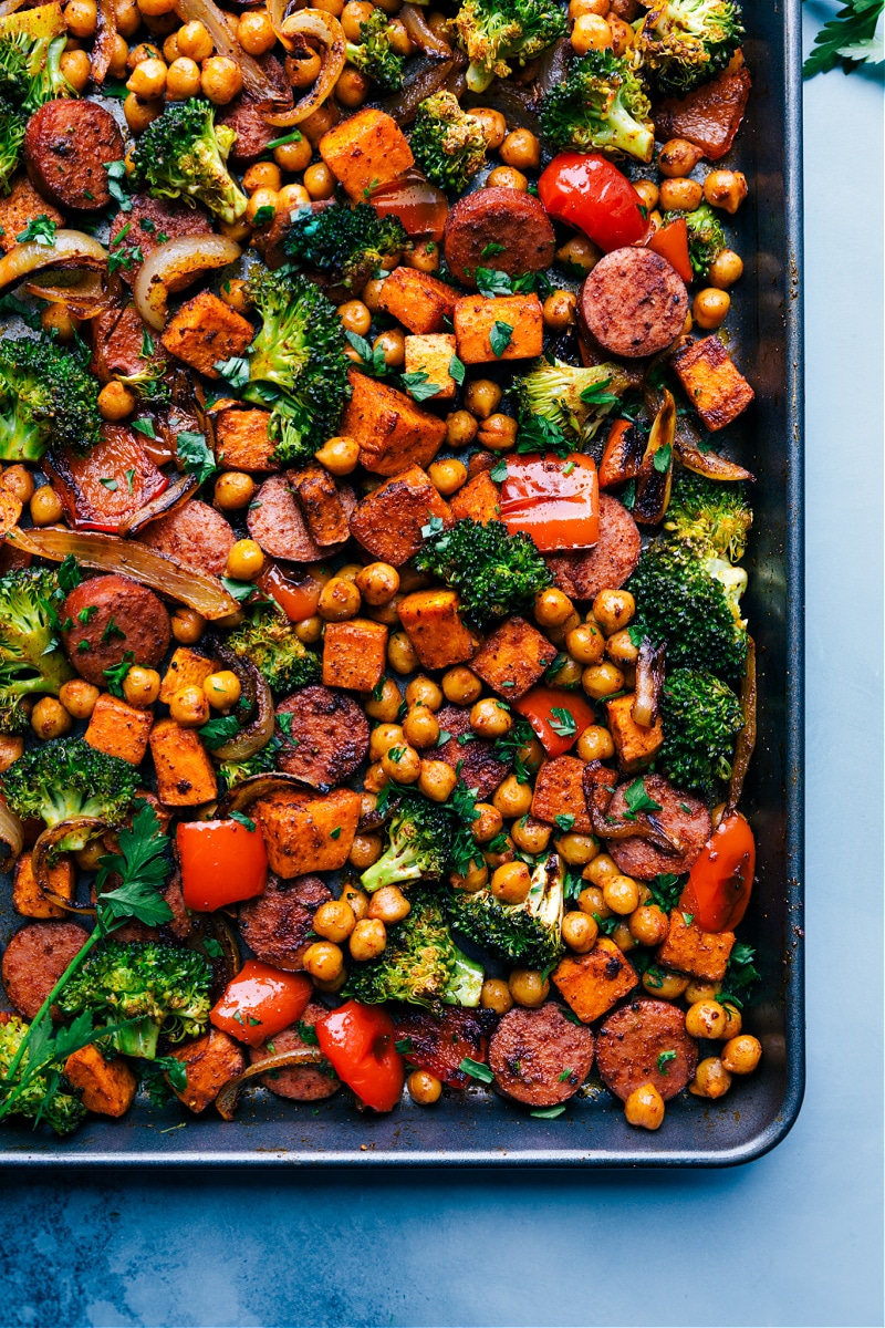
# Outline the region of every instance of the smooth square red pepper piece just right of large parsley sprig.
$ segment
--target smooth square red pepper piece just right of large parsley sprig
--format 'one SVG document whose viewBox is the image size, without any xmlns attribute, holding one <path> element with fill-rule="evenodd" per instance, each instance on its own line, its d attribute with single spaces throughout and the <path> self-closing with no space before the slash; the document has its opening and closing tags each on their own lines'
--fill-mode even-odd
<svg viewBox="0 0 885 1328">
<path fill-rule="evenodd" d="M 267 853 L 261 827 L 239 821 L 186 821 L 176 833 L 184 904 L 214 912 L 264 894 Z"/>
</svg>

